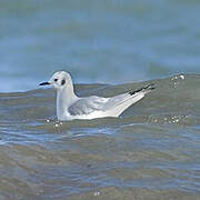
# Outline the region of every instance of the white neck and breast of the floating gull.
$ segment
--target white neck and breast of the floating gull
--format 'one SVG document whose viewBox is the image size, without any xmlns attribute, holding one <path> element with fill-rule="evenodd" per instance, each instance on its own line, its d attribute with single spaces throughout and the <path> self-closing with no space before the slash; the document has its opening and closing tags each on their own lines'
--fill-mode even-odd
<svg viewBox="0 0 200 200">
<path fill-rule="evenodd" d="M 68 83 L 64 88 L 57 91 L 57 116 L 58 119 L 63 119 L 67 109 L 78 99 L 73 91 L 73 84 Z"/>
</svg>

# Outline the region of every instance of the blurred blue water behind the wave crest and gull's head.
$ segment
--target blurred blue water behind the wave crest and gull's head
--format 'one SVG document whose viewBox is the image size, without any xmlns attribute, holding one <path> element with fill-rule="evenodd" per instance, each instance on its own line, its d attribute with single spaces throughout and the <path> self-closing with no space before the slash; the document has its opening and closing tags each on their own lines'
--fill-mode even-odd
<svg viewBox="0 0 200 200">
<path fill-rule="evenodd" d="M 0 92 L 200 72 L 199 0 L 1 0 Z"/>
</svg>

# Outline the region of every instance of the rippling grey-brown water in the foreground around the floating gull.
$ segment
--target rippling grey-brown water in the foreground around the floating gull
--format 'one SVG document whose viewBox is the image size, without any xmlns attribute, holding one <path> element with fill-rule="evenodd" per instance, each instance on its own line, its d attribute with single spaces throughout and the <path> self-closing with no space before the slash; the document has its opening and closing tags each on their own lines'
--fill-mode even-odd
<svg viewBox="0 0 200 200">
<path fill-rule="evenodd" d="M 0 199 L 199 199 L 199 78 L 151 80 L 157 89 L 120 118 L 86 121 L 57 121 L 52 89 L 0 93 Z"/>
</svg>

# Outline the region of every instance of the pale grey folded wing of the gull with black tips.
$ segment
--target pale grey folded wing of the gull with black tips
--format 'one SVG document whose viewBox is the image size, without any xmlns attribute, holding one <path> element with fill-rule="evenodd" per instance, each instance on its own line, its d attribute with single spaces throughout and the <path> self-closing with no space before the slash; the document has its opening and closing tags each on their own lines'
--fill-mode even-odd
<svg viewBox="0 0 200 200">
<path fill-rule="evenodd" d="M 153 90 L 153 84 L 148 84 L 139 90 L 122 93 L 112 98 L 102 98 L 91 96 L 88 98 L 80 98 L 71 107 L 68 108 L 68 112 L 71 116 L 90 114 L 94 111 L 110 112 L 111 116 L 119 116 L 128 107 L 136 103 L 144 97 L 146 93 Z"/>
</svg>

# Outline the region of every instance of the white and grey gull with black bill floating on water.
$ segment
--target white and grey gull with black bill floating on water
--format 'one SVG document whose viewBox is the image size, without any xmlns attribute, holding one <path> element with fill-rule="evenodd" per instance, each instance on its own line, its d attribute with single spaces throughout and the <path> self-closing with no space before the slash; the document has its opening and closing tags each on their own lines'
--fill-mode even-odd
<svg viewBox="0 0 200 200">
<path fill-rule="evenodd" d="M 74 119 L 90 120 L 106 117 L 117 118 L 131 104 L 138 102 L 154 89 L 151 83 L 139 90 L 110 98 L 97 96 L 81 98 L 76 96 L 71 76 L 66 71 L 58 71 L 48 82 L 40 83 L 40 86 L 46 84 L 51 84 L 57 89 L 57 117 L 61 121 Z"/>
</svg>

